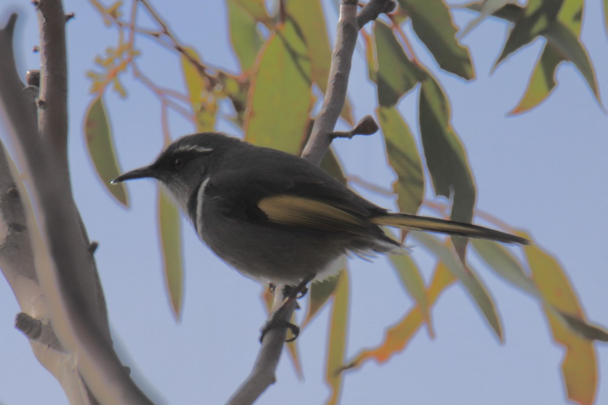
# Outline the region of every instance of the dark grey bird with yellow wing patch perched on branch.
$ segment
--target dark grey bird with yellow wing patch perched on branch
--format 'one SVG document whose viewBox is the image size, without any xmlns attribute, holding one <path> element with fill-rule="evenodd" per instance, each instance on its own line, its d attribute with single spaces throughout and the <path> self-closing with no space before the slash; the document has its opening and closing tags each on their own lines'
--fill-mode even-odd
<svg viewBox="0 0 608 405">
<path fill-rule="evenodd" d="M 382 226 L 530 243 L 471 223 L 390 213 L 301 157 L 221 132 L 184 135 L 112 183 L 144 178 L 161 183 L 216 256 L 262 284 L 305 287 L 337 274 L 345 255 L 402 253 Z"/>
</svg>

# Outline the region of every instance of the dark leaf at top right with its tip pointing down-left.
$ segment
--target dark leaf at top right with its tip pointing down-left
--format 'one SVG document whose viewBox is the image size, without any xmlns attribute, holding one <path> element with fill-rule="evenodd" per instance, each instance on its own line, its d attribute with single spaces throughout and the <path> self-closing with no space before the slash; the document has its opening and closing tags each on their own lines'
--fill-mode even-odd
<svg viewBox="0 0 608 405">
<path fill-rule="evenodd" d="M 511 29 L 505 46 L 503 46 L 499 58 L 494 63 L 494 69 L 511 53 L 531 43 L 537 36 L 547 30 L 551 22 L 555 20 L 563 1 L 530 0 L 523 10 L 523 15 Z"/>
</svg>

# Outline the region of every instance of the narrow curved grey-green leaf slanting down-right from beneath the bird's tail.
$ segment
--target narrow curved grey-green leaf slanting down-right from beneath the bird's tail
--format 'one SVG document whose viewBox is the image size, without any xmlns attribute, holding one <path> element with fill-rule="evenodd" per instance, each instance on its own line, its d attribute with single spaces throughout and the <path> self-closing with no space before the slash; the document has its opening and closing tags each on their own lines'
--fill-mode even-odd
<svg viewBox="0 0 608 405">
<path fill-rule="evenodd" d="M 489 296 L 487 288 L 478 279 L 475 272 L 470 267 L 465 268 L 462 262 L 454 256 L 454 253 L 435 237 L 423 232 L 412 232 L 412 237 L 420 242 L 421 245 L 437 254 L 441 261 L 446 264 L 449 271 L 462 282 L 471 298 L 475 301 L 475 304 L 477 304 L 477 307 L 482 311 L 492 330 L 496 333 L 496 336 L 502 341 L 502 326 L 496 312 L 496 305 L 494 305 L 494 301 Z"/>
</svg>

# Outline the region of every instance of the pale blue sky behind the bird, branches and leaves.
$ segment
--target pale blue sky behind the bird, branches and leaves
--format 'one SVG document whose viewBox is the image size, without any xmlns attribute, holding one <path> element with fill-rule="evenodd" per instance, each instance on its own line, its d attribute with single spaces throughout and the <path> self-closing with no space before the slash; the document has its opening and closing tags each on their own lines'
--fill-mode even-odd
<svg viewBox="0 0 608 405">
<path fill-rule="evenodd" d="M 195 46 L 204 60 L 238 70 L 229 45 L 224 2 L 154 1 L 153 5 L 178 38 Z M 83 143 L 83 115 L 92 100 L 85 71 L 92 68 L 96 54 L 116 43 L 116 32 L 103 26 L 88 2 L 65 1 L 64 7 L 76 14 L 67 24 L 72 187 L 89 237 L 100 243 L 95 256 L 116 345 L 157 403 L 224 403 L 247 376 L 258 352 L 258 328 L 265 319 L 261 288 L 216 259 L 183 221 L 185 302 L 181 322 L 175 322 L 161 273 L 156 186 L 147 181 L 129 183 L 131 208 L 123 208 L 100 184 Z M 324 7 L 333 39 L 336 8 L 331 1 Z M 38 55 L 30 52 L 37 44 L 36 16 L 29 2 L 2 1 L 2 26 L 13 11 L 19 12 L 16 49 L 19 72 L 24 73 L 40 64 Z M 474 16 L 463 10 L 454 13 L 461 27 Z M 586 2 L 582 41 L 605 95 L 608 41 L 602 19 L 600 2 Z M 413 45 L 451 101 L 452 123 L 477 183 L 477 207 L 529 231 L 534 243 L 559 257 L 587 316 L 608 326 L 604 251 L 608 245 L 608 117 L 571 64 L 559 68 L 558 88 L 545 103 L 526 114 L 507 117 L 520 100 L 544 44 L 537 39 L 490 75 L 507 29 L 503 22 L 486 20 L 463 40 L 477 73 L 471 83 L 439 72 L 424 47 L 416 40 Z M 406 32 L 415 38 L 409 25 Z M 178 58 L 146 38 L 138 38 L 136 44 L 143 50 L 139 66 L 147 75 L 163 86 L 184 89 Z M 130 73 L 126 76 L 131 78 Z M 109 92 L 106 104 L 120 165 L 128 170 L 156 157 L 162 148 L 162 132 L 157 99 L 137 82 L 123 83 L 128 98 L 121 100 Z M 416 93 L 404 98 L 399 109 L 418 136 Z M 354 55 L 349 97 L 356 120 L 373 114 L 375 87 L 367 79 L 361 44 Z M 603 100 L 608 104 L 606 97 Z M 236 131 L 227 121 L 219 122 L 217 129 Z M 173 114 L 170 131 L 177 138 L 193 128 Z M 336 140 L 334 146 L 348 174 L 384 187 L 393 182 L 392 172 L 384 167 L 380 135 Z M 378 205 L 395 208 L 393 199 L 356 185 L 354 189 Z M 430 189 L 427 183 L 428 197 L 432 197 Z M 419 247 L 413 248 L 412 257 L 429 281 L 433 260 Z M 471 260 L 478 263 L 473 256 Z M 381 342 L 385 328 L 412 307 L 385 259 L 373 264 L 351 260 L 350 268 L 346 358 Z M 476 268 L 497 304 L 504 344 L 463 288 L 451 287 L 432 310 L 437 337 L 430 339 L 421 328 L 406 350 L 389 363 L 369 362 L 348 372 L 343 404 L 568 403 L 560 370 L 564 351 L 553 342 L 542 308 L 489 269 Z M 38 364 L 26 338 L 12 327 L 18 311 L 8 284 L 0 281 L 0 403 L 66 403 L 57 381 Z M 324 378 L 329 315 L 326 308 L 298 339 L 304 381 L 297 379 L 288 357 L 283 356 L 277 383 L 258 404 L 320 404 L 328 398 Z M 596 344 L 596 349 L 596 403 L 602 404 L 608 403 L 608 348 Z"/>
</svg>

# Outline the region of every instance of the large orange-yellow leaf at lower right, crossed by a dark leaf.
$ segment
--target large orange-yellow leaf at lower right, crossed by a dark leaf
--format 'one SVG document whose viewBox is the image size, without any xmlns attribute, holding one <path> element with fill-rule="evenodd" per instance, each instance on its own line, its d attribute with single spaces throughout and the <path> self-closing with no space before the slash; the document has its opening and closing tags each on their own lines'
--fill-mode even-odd
<svg viewBox="0 0 608 405">
<path fill-rule="evenodd" d="M 536 245 L 525 247 L 525 254 L 539 291 L 554 308 L 584 320 L 578 298 L 558 261 Z M 545 307 L 553 336 L 566 348 L 562 373 L 568 398 L 579 404 L 592 404 L 597 384 L 597 364 L 593 343 L 572 332 L 552 310 Z"/>
</svg>

